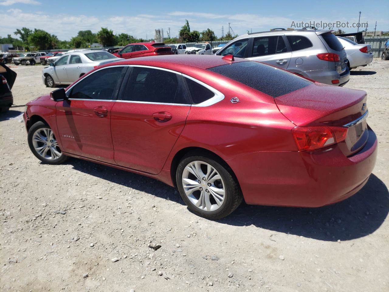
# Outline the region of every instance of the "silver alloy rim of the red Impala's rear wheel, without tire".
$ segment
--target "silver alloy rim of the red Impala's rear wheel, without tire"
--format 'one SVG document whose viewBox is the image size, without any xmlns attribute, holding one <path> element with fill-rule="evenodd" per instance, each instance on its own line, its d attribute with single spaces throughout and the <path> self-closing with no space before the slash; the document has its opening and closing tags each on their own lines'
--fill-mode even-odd
<svg viewBox="0 0 389 292">
<path fill-rule="evenodd" d="M 182 173 L 182 186 L 189 201 L 202 211 L 219 209 L 226 197 L 223 179 L 207 162 L 189 162 Z"/>
</svg>

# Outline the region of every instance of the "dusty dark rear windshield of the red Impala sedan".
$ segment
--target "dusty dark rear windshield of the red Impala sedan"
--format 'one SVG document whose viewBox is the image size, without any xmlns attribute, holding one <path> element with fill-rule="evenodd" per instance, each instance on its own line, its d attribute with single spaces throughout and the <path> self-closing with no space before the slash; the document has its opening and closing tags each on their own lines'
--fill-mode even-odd
<svg viewBox="0 0 389 292">
<path fill-rule="evenodd" d="M 312 84 L 311 81 L 292 73 L 254 61 L 226 64 L 208 70 L 250 86 L 274 98 Z"/>
</svg>

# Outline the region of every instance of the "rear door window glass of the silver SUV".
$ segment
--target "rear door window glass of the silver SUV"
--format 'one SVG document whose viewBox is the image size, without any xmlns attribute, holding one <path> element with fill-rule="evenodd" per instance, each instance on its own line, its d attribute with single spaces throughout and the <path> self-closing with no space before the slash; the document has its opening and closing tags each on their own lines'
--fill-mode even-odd
<svg viewBox="0 0 389 292">
<path fill-rule="evenodd" d="M 275 55 L 287 52 L 282 36 L 256 37 L 252 46 L 252 57 Z"/>
</svg>

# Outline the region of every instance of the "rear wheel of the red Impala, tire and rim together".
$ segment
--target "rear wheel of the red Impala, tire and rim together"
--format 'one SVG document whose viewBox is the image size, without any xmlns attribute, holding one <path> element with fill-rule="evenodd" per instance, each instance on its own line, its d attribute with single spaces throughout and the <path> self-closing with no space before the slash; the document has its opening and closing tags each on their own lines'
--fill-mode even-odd
<svg viewBox="0 0 389 292">
<path fill-rule="evenodd" d="M 218 157 L 188 153 L 177 167 L 176 181 L 188 208 L 203 218 L 224 218 L 243 201 L 237 178 Z"/>
</svg>

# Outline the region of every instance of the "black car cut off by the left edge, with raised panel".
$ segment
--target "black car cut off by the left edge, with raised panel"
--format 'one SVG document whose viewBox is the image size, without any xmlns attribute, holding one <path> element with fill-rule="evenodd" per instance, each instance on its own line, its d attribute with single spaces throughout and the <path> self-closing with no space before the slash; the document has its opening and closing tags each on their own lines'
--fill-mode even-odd
<svg viewBox="0 0 389 292">
<path fill-rule="evenodd" d="M 12 86 L 16 79 L 16 73 L 9 69 L 4 63 L 0 63 L 0 112 L 4 113 L 14 103 Z"/>
</svg>

